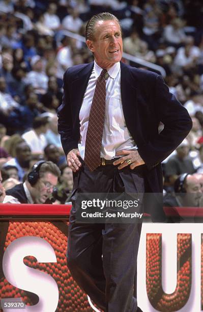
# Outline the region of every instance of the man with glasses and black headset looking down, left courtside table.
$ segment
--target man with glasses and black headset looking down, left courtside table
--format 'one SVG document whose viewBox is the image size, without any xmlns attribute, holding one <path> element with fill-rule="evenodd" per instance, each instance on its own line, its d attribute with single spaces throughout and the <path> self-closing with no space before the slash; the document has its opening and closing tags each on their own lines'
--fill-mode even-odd
<svg viewBox="0 0 203 312">
<path fill-rule="evenodd" d="M 51 203 L 53 188 L 61 175 L 60 169 L 50 161 L 37 162 L 27 174 L 23 184 L 6 192 L 4 203 Z"/>
</svg>

